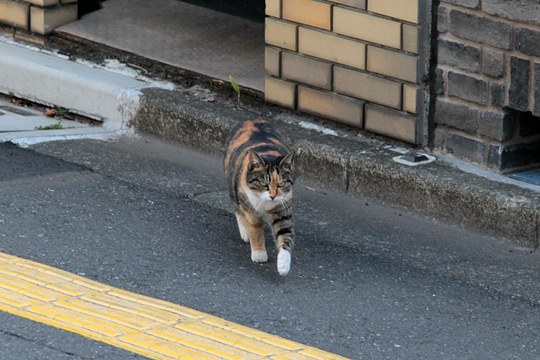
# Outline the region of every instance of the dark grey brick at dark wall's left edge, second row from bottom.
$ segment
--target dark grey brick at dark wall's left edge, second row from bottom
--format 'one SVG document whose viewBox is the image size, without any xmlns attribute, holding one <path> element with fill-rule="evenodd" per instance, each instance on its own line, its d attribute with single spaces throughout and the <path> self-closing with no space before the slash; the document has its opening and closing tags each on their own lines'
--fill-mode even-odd
<svg viewBox="0 0 540 360">
<path fill-rule="evenodd" d="M 479 111 L 469 106 L 437 99 L 435 122 L 475 134 L 478 130 Z"/>
</svg>

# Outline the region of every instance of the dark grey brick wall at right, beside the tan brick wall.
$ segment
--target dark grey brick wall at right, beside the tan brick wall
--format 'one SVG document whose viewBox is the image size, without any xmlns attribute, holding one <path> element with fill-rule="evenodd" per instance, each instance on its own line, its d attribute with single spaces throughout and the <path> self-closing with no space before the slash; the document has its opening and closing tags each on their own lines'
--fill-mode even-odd
<svg viewBox="0 0 540 360">
<path fill-rule="evenodd" d="M 498 170 L 540 163 L 540 2 L 442 0 L 434 145 Z"/>
</svg>

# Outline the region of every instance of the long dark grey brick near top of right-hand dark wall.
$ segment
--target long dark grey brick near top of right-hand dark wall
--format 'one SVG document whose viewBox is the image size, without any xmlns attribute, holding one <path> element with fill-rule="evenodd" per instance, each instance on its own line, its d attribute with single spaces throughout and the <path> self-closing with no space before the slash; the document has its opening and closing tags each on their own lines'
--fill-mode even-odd
<svg viewBox="0 0 540 360">
<path fill-rule="evenodd" d="M 512 26 L 487 17 L 450 11 L 449 29 L 452 34 L 467 40 L 509 50 L 512 47 Z"/>
</svg>

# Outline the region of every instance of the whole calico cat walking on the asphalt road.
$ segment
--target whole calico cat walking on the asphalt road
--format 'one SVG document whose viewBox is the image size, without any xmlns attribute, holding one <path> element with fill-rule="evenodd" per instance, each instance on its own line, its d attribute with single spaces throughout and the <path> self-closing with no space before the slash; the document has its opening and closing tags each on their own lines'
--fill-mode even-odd
<svg viewBox="0 0 540 360">
<path fill-rule="evenodd" d="M 282 276 L 289 273 L 294 241 L 293 159 L 283 137 L 266 120 L 238 124 L 229 135 L 224 159 L 240 237 L 251 246 L 251 260 L 268 260 L 266 222 L 272 229 Z"/>
</svg>

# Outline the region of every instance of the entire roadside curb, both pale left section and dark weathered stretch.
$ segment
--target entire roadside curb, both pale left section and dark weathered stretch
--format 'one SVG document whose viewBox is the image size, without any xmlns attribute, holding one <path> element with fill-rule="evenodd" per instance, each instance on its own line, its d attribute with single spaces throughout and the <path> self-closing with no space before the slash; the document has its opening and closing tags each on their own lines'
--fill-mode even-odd
<svg viewBox="0 0 540 360">
<path fill-rule="evenodd" d="M 23 76 L 23 70 L 15 61 L 6 59 L 16 59 L 20 46 L 9 41 L 0 44 L 3 46 L 0 69 L 11 74 L 13 79 L 9 86 L 3 82 L 0 91 L 40 103 L 54 103 L 46 98 L 52 90 L 33 93 L 19 89 L 22 85 L 17 79 Z M 51 57 L 60 64 L 54 73 L 46 66 L 40 66 L 52 61 Z M 502 235 L 529 248 L 536 249 L 539 245 L 539 187 L 525 186 L 490 172 L 479 174 L 479 169 L 473 168 L 476 174 L 466 172 L 441 159 L 417 167 L 401 165 L 392 158 L 410 149 L 402 148 L 400 144 L 285 111 L 251 97 L 241 97 L 238 103 L 232 91 L 230 94 L 216 93 L 197 85 L 163 88 L 88 65 L 80 70 L 62 72 L 71 69 L 74 63 L 38 51 L 34 51 L 32 58 L 34 76 L 41 74 L 53 79 L 56 74 L 64 78 L 62 84 L 73 80 L 72 87 L 58 86 L 58 82 L 52 80 L 42 84 L 57 91 L 59 99 L 62 95 L 68 98 L 73 92 L 85 94 L 80 102 L 55 105 L 88 115 L 87 106 L 99 103 L 99 109 L 93 107 L 90 115 L 101 118 L 105 127 L 127 125 L 139 132 L 221 155 L 227 132 L 234 123 L 254 117 L 271 119 L 294 144 L 300 177 L 318 182 L 322 187 L 366 196 L 428 217 Z M 96 71 L 105 72 L 104 77 L 96 76 Z M 101 88 L 117 76 L 121 76 L 118 79 L 120 85 L 115 83 L 107 85 L 105 90 Z M 103 94 L 109 94 L 107 101 L 100 100 Z"/>
</svg>

